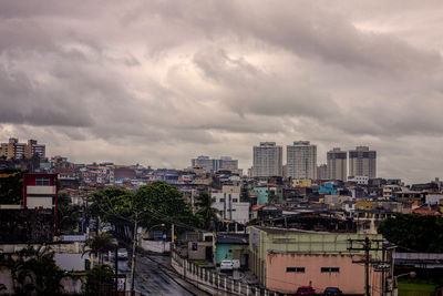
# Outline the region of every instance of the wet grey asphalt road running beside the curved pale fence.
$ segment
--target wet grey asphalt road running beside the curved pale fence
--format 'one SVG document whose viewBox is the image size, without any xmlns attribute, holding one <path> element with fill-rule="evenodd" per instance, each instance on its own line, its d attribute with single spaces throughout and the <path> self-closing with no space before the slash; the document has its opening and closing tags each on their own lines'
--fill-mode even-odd
<svg viewBox="0 0 443 296">
<path fill-rule="evenodd" d="M 156 256 L 157 262 L 162 262 L 168 264 L 168 257 Z M 126 275 L 126 289 L 131 288 L 131 264 L 130 261 L 119 261 L 119 274 Z M 168 275 L 166 275 L 158 265 L 148 259 L 143 255 L 137 255 L 136 258 L 136 271 L 142 275 L 144 279 L 140 276 L 135 276 L 134 286 L 135 290 L 141 292 L 146 295 L 185 295 L 190 296 L 189 292 L 184 289 L 181 285 L 178 285 L 174 279 L 172 279 Z"/>
</svg>

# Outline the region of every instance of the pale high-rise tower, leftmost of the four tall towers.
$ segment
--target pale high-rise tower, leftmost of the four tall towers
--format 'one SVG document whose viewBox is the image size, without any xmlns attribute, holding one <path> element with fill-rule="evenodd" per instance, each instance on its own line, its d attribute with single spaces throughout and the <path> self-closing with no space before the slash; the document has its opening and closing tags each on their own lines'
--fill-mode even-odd
<svg viewBox="0 0 443 296">
<path fill-rule="evenodd" d="M 282 147 L 276 142 L 260 142 L 254 146 L 253 175 L 255 177 L 282 176 Z"/>
</svg>

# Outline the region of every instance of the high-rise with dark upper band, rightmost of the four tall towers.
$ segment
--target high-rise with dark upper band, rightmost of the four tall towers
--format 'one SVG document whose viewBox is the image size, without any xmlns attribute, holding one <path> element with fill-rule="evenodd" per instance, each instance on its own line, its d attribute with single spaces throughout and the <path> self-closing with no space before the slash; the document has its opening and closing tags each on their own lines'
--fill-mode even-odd
<svg viewBox="0 0 443 296">
<path fill-rule="evenodd" d="M 349 151 L 349 176 L 377 177 L 377 151 L 368 146 L 357 146 Z"/>
</svg>

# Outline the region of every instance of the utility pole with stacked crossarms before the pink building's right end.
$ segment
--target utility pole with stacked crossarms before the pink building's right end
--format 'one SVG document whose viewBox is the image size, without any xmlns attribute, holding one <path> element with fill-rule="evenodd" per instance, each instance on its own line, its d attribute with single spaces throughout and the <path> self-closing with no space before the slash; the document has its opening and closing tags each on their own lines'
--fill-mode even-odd
<svg viewBox="0 0 443 296">
<path fill-rule="evenodd" d="M 373 263 L 371 261 L 370 252 L 371 251 L 382 251 L 383 247 L 380 246 L 380 243 L 383 244 L 383 239 L 370 239 L 368 236 L 364 239 L 348 239 L 349 247 L 348 251 L 364 251 L 364 259 L 363 261 L 352 261 L 352 263 L 361 264 L 364 263 L 364 296 L 370 296 L 370 283 L 369 283 L 369 266 Z M 354 247 L 353 243 L 359 244 L 359 247 Z M 374 245 L 374 246 L 373 246 Z"/>
</svg>

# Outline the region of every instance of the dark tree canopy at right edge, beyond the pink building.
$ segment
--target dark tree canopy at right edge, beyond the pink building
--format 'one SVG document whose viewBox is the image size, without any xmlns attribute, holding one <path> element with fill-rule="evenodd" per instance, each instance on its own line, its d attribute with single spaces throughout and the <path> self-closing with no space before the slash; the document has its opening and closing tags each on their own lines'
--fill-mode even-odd
<svg viewBox="0 0 443 296">
<path fill-rule="evenodd" d="M 421 215 L 398 215 L 387 218 L 379 226 L 379 233 L 400 251 L 442 253 L 443 217 Z"/>
</svg>

